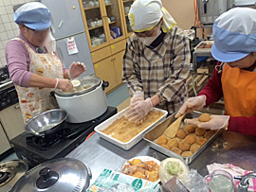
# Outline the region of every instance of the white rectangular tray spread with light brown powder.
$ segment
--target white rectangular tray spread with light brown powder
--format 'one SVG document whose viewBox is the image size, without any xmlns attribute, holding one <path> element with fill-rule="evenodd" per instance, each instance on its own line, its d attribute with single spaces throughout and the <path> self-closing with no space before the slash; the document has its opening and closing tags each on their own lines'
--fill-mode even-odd
<svg viewBox="0 0 256 192">
<path fill-rule="evenodd" d="M 125 150 L 134 147 L 146 131 L 154 128 L 167 116 L 166 111 L 154 108 L 142 123 L 137 124 L 124 117 L 127 110 L 128 108 L 122 110 L 95 128 L 101 138 Z"/>
</svg>

